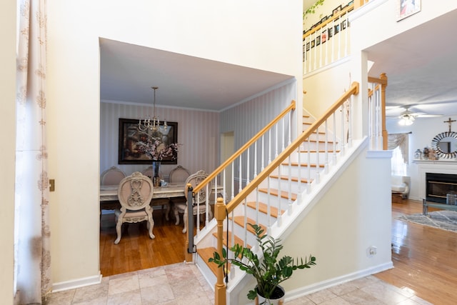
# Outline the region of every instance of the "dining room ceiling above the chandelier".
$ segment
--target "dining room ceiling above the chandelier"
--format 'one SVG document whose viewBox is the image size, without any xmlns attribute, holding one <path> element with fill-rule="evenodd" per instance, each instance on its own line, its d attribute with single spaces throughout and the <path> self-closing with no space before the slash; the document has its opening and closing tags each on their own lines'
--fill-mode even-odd
<svg viewBox="0 0 457 305">
<path fill-rule="evenodd" d="M 169 51 L 100 39 L 100 98 L 220 111 L 293 78 Z"/>
</svg>

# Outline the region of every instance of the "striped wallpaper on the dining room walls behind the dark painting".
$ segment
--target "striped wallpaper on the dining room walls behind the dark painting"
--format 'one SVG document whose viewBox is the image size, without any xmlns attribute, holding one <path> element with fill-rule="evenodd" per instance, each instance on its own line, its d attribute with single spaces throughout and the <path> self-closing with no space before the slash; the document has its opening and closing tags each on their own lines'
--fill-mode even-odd
<svg viewBox="0 0 457 305">
<path fill-rule="evenodd" d="M 192 173 L 200 169 L 211 173 L 221 163 L 219 134 L 233 131 L 236 151 L 293 99 L 296 99 L 294 81 L 258 94 L 220 113 L 159 106 L 156 111 L 161 118 L 178 123 L 178 142 L 182 146 L 176 165 L 184 166 Z M 102 101 L 100 107 L 100 171 L 117 166 L 129 175 L 145 169 L 146 164 L 118 164 L 119 118 L 139 119 L 146 114 L 151 115 L 152 107 L 110 101 Z M 162 164 L 161 171 L 166 178 L 176 165 Z"/>
</svg>

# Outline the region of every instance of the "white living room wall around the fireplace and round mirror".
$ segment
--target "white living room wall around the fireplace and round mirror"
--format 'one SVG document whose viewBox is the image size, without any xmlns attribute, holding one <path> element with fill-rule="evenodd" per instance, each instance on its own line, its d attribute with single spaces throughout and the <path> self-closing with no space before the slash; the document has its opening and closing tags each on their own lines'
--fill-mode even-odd
<svg viewBox="0 0 457 305">
<path fill-rule="evenodd" d="M 389 119 L 386 121 L 386 129 L 389 134 L 401 134 L 411 132 L 409 135 L 408 146 L 408 173 L 411 176 L 411 190 L 409 192 L 410 199 L 420 200 L 419 184 L 425 184 L 425 181 L 419 179 L 418 166 L 413 162 L 414 151 L 424 147 L 431 147 L 431 140 L 441 132 L 449 131 L 447 121 L 449 118 L 455 120 L 457 115 L 446 115 L 438 118 L 416 118 L 411 126 L 398 125 L 398 119 Z M 452 131 L 457 131 L 457 124 L 453 123 Z M 457 174 L 457 173 L 456 173 Z"/>
</svg>

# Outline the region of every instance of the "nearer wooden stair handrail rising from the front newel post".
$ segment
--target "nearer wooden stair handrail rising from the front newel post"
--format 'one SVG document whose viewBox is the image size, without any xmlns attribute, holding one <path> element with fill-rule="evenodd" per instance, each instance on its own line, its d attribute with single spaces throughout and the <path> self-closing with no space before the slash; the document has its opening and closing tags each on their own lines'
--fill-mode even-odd
<svg viewBox="0 0 457 305">
<path fill-rule="evenodd" d="M 351 88 L 346 91 L 327 111 L 321 118 L 317 119 L 311 126 L 306 129 L 306 131 L 303 131 L 303 133 L 298 136 L 298 138 L 293 141 L 284 151 L 281 152 L 281 154 L 278 155 L 277 158 L 275 158 L 273 161 L 271 161 L 268 166 L 261 171 L 260 174 L 258 174 L 254 179 L 251 180 L 251 182 L 244 188 L 242 189 L 236 196 L 233 198 L 229 204 L 226 205 L 226 212 L 230 213 L 233 211 L 233 209 L 238 206 L 238 204 L 241 203 L 243 199 L 248 196 L 248 194 L 251 194 L 251 192 L 256 189 L 256 187 L 268 177 L 271 172 L 273 172 L 276 167 L 278 167 L 286 158 L 289 156 L 294 150 L 300 146 L 303 141 L 308 139 L 311 134 L 313 134 L 313 131 L 316 130 L 318 126 L 321 126 L 323 122 L 326 121 L 337 109 L 340 107 L 351 95 L 357 95 L 358 94 L 358 87 L 359 84 L 358 82 L 353 82 L 351 85 Z"/>
</svg>

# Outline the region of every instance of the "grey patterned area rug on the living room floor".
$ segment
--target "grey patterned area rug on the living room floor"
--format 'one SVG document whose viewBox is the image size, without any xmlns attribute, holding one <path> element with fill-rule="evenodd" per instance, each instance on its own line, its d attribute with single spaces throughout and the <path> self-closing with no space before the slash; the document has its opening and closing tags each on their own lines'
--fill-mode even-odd
<svg viewBox="0 0 457 305">
<path fill-rule="evenodd" d="M 415 224 L 433 226 L 433 228 L 457 232 L 457 211 L 433 211 L 428 216 L 423 214 L 403 215 L 399 220 L 411 221 Z"/>
</svg>

